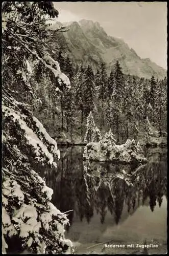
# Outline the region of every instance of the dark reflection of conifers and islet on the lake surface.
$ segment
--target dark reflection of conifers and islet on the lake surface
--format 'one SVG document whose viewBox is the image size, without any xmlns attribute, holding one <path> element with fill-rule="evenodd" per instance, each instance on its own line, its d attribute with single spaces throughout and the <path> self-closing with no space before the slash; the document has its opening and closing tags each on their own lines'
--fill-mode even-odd
<svg viewBox="0 0 169 256">
<path fill-rule="evenodd" d="M 70 225 L 74 214 L 89 223 L 94 212 L 104 223 L 107 211 L 118 224 L 124 207 L 132 215 L 149 202 L 154 211 L 167 198 L 166 154 L 147 152 L 149 161 L 142 166 L 83 162 L 82 155 L 82 147 L 63 148 L 58 170 L 40 171 L 54 190 L 54 205 L 62 212 L 74 210 L 68 215 Z"/>
</svg>

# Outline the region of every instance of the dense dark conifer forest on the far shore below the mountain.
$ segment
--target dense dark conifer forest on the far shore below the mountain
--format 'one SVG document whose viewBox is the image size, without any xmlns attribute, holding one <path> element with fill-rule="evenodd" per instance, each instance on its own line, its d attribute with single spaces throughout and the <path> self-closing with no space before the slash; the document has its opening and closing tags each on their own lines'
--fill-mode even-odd
<svg viewBox="0 0 169 256">
<path fill-rule="evenodd" d="M 53 137 L 83 141 L 90 111 L 101 133 L 111 129 L 120 142 L 137 137 L 147 116 L 157 131 L 166 130 L 166 77 L 158 80 L 154 76 L 145 79 L 126 75 L 118 61 L 110 75 L 104 63 L 96 72 L 91 66 L 75 68 L 69 56 L 64 58 L 61 51 L 57 59 L 70 79 L 69 91 L 54 94 L 56 84 L 49 76 L 41 74 L 39 77 L 36 71 L 32 74 L 32 79 L 39 82 L 34 112 Z"/>
</svg>

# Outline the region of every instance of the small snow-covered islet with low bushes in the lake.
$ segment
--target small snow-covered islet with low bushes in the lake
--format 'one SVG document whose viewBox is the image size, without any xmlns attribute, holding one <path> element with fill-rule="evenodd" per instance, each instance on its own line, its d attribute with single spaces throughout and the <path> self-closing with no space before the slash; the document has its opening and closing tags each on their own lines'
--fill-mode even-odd
<svg viewBox="0 0 169 256">
<path fill-rule="evenodd" d="M 125 144 L 116 145 L 111 141 L 89 142 L 83 153 L 84 160 L 143 163 L 147 159 L 143 155 L 139 142 L 128 139 Z"/>
</svg>

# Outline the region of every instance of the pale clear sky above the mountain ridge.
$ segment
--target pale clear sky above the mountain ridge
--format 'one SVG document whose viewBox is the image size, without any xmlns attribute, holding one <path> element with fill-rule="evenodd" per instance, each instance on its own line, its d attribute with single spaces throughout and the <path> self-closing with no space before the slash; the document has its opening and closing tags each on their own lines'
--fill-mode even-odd
<svg viewBox="0 0 169 256">
<path fill-rule="evenodd" d="M 97 21 L 108 35 L 120 37 L 141 58 L 167 67 L 166 2 L 55 2 L 58 21 Z"/>
</svg>

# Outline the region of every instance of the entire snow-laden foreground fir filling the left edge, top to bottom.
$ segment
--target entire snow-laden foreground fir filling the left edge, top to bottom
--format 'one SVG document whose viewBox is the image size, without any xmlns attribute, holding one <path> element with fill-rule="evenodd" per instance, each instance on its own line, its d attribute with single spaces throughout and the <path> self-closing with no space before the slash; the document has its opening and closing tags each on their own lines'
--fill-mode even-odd
<svg viewBox="0 0 169 256">
<path fill-rule="evenodd" d="M 58 61 L 44 50 L 49 27 L 46 19 L 57 17 L 58 11 L 52 2 L 4 2 L 2 11 L 6 20 L 2 34 L 3 253 L 70 252 L 71 242 L 64 237 L 68 219 L 51 203 L 53 190 L 36 173 L 43 165 L 57 167 L 57 143 L 33 115 L 30 105 L 23 103 L 26 98 L 19 102 L 17 92 L 10 88 L 17 84 L 23 95 L 32 94 L 27 67 L 37 60 L 43 71 L 53 73 L 54 91 L 70 88 L 69 78 L 61 72 Z"/>
</svg>

